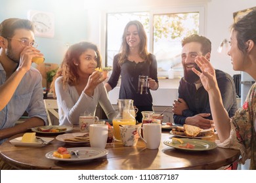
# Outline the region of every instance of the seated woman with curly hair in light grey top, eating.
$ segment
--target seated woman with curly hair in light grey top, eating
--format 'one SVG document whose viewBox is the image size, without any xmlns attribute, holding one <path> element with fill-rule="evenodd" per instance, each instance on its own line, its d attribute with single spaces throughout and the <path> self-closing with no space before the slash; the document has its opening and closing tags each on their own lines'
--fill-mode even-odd
<svg viewBox="0 0 256 183">
<path fill-rule="evenodd" d="M 101 57 L 95 44 L 79 42 L 68 48 L 51 86 L 60 125 L 78 125 L 80 114 L 95 114 L 98 103 L 109 119 L 116 116 L 102 83 L 106 78 L 95 71 L 97 67 L 101 67 Z"/>
</svg>

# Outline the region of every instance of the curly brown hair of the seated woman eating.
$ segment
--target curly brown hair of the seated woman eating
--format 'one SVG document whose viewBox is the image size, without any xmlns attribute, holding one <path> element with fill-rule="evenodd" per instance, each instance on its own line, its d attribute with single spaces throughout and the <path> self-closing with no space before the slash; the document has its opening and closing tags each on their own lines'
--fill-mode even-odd
<svg viewBox="0 0 256 183">
<path fill-rule="evenodd" d="M 77 84 L 79 75 L 77 74 L 77 66 L 74 64 L 74 62 L 79 62 L 79 56 L 81 56 L 81 54 L 83 54 L 83 52 L 88 49 L 95 50 L 97 56 L 97 67 L 101 67 L 102 59 L 98 47 L 95 44 L 91 42 L 79 42 L 77 44 L 73 44 L 72 46 L 70 46 L 70 48 L 68 48 L 65 57 L 60 65 L 60 68 L 56 72 L 56 75 L 53 78 L 53 82 L 51 83 L 51 91 L 54 93 L 54 95 L 56 94 L 54 82 L 56 78 L 60 76 L 63 77 L 63 89 L 66 89 L 68 84 L 70 84 L 71 86 Z"/>
</svg>

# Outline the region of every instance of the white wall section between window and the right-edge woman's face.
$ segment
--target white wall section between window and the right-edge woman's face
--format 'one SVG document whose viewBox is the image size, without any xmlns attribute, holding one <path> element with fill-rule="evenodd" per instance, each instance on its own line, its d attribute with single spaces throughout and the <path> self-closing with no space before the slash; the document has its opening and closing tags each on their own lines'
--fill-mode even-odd
<svg viewBox="0 0 256 183">
<path fill-rule="evenodd" d="M 233 12 L 244 10 L 246 8 L 256 7 L 255 0 L 212 0 L 207 5 L 205 11 L 206 31 L 205 36 L 212 42 L 211 63 L 217 69 L 221 69 L 231 76 L 240 73 L 232 69 L 229 56 L 217 54 L 217 48 L 220 42 L 230 38 L 230 25 L 233 23 Z"/>
</svg>

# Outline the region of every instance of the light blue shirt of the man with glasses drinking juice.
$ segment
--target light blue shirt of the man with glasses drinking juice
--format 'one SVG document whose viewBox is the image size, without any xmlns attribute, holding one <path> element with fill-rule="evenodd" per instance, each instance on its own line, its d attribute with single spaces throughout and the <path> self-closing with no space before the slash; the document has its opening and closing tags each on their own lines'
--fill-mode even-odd
<svg viewBox="0 0 256 183">
<path fill-rule="evenodd" d="M 5 78 L 6 73 L 0 63 L 0 85 L 5 83 Z M 7 106 L 0 111 L 0 130 L 13 127 L 25 111 L 28 112 L 29 118 L 38 117 L 47 124 L 41 80 L 39 71 L 31 67 L 22 78 Z M 0 140 L 0 144 L 4 140 Z"/>
</svg>

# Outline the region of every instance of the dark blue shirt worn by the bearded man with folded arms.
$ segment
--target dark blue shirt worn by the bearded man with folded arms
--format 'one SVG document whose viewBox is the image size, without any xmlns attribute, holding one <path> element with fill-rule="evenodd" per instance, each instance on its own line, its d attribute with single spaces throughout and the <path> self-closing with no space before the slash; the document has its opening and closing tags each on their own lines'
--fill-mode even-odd
<svg viewBox="0 0 256 183">
<path fill-rule="evenodd" d="M 230 75 L 223 71 L 215 69 L 215 73 L 219 90 L 221 91 L 224 108 L 226 108 L 228 116 L 232 117 L 237 110 L 234 80 Z M 181 78 L 179 85 L 179 98 L 186 101 L 189 109 L 183 110 L 181 116 L 173 114 L 175 124 L 184 125 L 185 120 L 188 117 L 195 116 L 200 113 L 211 113 L 209 96 L 203 86 L 196 90 L 195 84 L 190 84 L 186 82 L 184 78 Z M 207 119 L 212 120 L 212 116 L 209 116 Z"/>
</svg>

